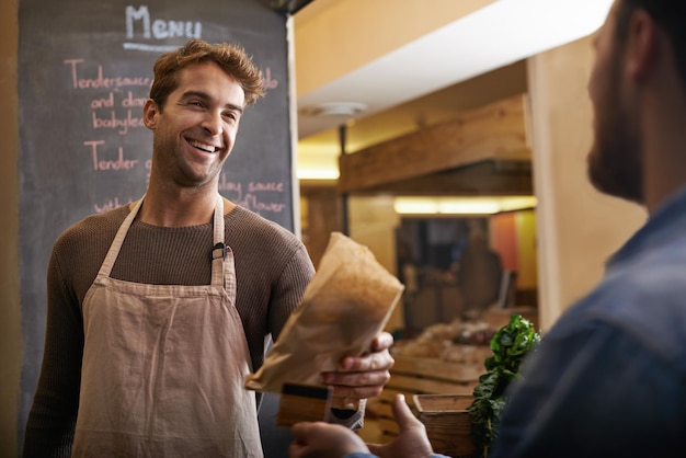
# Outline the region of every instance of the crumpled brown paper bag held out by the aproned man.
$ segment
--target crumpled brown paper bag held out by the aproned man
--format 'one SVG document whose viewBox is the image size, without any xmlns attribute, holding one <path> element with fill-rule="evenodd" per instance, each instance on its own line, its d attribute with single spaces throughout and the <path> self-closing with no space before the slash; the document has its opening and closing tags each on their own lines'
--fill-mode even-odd
<svg viewBox="0 0 686 458">
<path fill-rule="evenodd" d="M 369 350 L 403 289 L 368 248 L 332 232 L 301 302 L 245 388 L 278 393 L 285 382 L 321 386 L 321 373 Z"/>
</svg>

